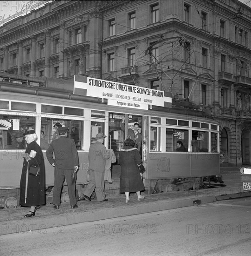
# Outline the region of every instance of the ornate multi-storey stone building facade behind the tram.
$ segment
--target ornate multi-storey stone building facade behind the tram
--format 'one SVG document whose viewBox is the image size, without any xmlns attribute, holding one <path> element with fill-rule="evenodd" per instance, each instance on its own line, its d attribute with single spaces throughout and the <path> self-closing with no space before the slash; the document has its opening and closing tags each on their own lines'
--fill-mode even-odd
<svg viewBox="0 0 251 256">
<path fill-rule="evenodd" d="M 238 0 L 53 1 L 0 27 L 0 71 L 172 93 L 220 123 L 222 165 L 251 163 L 251 8 Z"/>
</svg>

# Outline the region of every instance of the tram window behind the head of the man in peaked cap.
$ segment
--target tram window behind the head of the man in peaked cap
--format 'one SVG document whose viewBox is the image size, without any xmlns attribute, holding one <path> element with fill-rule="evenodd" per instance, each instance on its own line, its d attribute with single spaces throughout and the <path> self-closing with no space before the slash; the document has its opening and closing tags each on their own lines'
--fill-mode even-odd
<svg viewBox="0 0 251 256">
<path fill-rule="evenodd" d="M 44 118 L 41 120 L 41 131 L 44 131 L 45 140 L 51 143 L 52 140 L 58 138 L 57 131 L 54 128 L 56 123 L 60 123 L 68 128 L 67 138 L 75 141 L 77 149 L 82 149 L 83 145 L 83 121 L 79 120 L 57 120 Z"/>
</svg>

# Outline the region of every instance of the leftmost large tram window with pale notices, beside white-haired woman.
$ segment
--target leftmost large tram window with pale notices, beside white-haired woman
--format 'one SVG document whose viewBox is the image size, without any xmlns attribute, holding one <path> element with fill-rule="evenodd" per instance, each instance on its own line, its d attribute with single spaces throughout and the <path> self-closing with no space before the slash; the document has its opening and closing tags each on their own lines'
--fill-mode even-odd
<svg viewBox="0 0 251 256">
<path fill-rule="evenodd" d="M 22 133 L 35 129 L 35 118 L 28 115 L 0 115 L 0 148 L 26 149 Z M 18 138 L 16 138 L 18 136 Z"/>
</svg>

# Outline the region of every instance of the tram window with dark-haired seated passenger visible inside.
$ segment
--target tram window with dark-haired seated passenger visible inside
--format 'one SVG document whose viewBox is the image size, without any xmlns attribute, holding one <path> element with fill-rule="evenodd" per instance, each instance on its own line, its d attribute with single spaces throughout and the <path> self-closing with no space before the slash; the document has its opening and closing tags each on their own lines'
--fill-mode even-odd
<svg viewBox="0 0 251 256">
<path fill-rule="evenodd" d="M 177 149 L 177 141 L 181 141 L 184 148 L 182 150 Z M 187 152 L 188 148 L 188 130 L 166 128 L 166 151 Z"/>
</svg>

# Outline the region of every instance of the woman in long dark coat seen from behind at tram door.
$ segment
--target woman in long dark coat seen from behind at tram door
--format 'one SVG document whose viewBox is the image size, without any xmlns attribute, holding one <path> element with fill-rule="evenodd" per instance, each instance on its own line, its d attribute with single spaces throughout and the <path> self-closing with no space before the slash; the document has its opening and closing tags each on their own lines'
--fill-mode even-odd
<svg viewBox="0 0 251 256">
<path fill-rule="evenodd" d="M 120 174 L 120 193 L 125 193 L 126 203 L 129 203 L 129 193 L 136 192 L 138 201 L 145 196 L 140 191 L 145 190 L 142 178 L 137 164 L 142 163 L 142 159 L 137 148 L 134 148 L 135 142 L 132 139 L 125 140 L 125 148 L 119 152 L 119 164 L 121 165 Z"/>
</svg>

